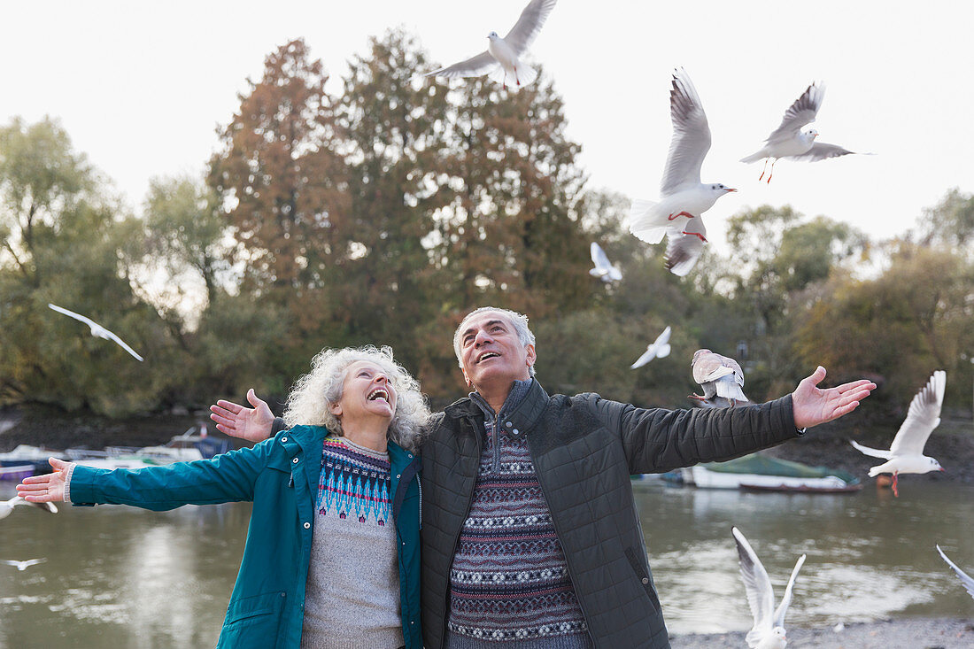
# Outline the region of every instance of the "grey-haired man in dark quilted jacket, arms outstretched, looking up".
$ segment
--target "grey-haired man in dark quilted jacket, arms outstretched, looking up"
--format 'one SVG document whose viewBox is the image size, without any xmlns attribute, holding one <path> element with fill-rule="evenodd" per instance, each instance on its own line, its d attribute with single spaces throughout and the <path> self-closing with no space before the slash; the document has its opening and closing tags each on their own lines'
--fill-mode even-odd
<svg viewBox="0 0 974 649">
<path fill-rule="evenodd" d="M 819 367 L 793 394 L 737 408 L 552 397 L 533 378 L 527 318 L 494 307 L 468 314 L 454 350 L 473 392 L 433 415 L 423 444 L 428 649 L 668 647 L 629 476 L 797 438 L 876 387 L 819 390 Z M 224 425 L 244 428 L 246 411 Z"/>
</svg>

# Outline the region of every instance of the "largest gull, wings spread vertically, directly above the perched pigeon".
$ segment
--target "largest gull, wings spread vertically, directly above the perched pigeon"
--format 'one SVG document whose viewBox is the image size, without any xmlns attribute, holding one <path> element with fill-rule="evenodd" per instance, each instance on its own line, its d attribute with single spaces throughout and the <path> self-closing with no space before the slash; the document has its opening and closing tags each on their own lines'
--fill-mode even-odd
<svg viewBox="0 0 974 649">
<path fill-rule="evenodd" d="M 660 200 L 633 201 L 628 225 L 629 232 L 647 244 L 658 244 L 666 236 L 666 269 L 684 277 L 707 243 L 707 229 L 700 215 L 717 199 L 737 190 L 721 183 L 700 182 L 700 166 L 710 149 L 707 116 L 686 70 L 673 72 L 671 86 L 673 137 L 659 186 Z"/>
</svg>

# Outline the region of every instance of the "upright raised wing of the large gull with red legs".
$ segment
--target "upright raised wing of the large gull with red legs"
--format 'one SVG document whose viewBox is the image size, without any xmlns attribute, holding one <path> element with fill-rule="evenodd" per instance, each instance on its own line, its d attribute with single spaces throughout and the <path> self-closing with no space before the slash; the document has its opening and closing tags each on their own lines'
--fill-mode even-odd
<svg viewBox="0 0 974 649">
<path fill-rule="evenodd" d="M 670 118 L 673 120 L 673 137 L 670 139 L 666 168 L 659 185 L 663 196 L 674 193 L 683 185 L 698 184 L 700 166 L 710 150 L 707 115 L 703 112 L 703 104 L 700 103 L 700 97 L 696 94 L 687 71 L 683 68 L 674 70 L 671 86 Z"/>
</svg>

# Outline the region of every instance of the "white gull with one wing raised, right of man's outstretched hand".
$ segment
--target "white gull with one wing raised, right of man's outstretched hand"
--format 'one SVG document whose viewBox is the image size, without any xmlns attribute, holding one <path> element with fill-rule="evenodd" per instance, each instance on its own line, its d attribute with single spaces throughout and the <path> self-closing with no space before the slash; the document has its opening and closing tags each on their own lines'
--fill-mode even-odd
<svg viewBox="0 0 974 649">
<path fill-rule="evenodd" d="M 913 401 L 910 401 L 907 418 L 897 431 L 889 450 L 870 448 L 852 441 L 852 445 L 866 455 L 886 460 L 883 464 L 870 469 L 869 477 L 892 474 L 894 496 L 900 495 L 896 488 L 900 474 L 926 474 L 944 470 L 935 459 L 923 455 L 923 445 L 933 433 L 933 429 L 940 425 L 940 406 L 944 402 L 946 387 L 947 372 L 938 369 L 926 385 L 920 388 Z"/>
</svg>

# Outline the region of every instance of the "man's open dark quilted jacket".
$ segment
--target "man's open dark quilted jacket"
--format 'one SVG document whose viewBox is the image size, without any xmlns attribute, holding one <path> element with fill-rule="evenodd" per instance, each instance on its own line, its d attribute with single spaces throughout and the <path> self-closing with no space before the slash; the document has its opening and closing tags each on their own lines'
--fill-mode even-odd
<svg viewBox="0 0 974 649">
<path fill-rule="evenodd" d="M 629 476 L 730 460 L 799 435 L 791 396 L 726 409 L 643 409 L 591 393 L 548 397 L 537 381 L 498 423 L 508 435 L 527 436 L 588 632 L 600 649 L 669 647 Z M 462 399 L 435 415 L 423 445 L 427 649 L 443 645 L 450 568 L 482 439 L 483 414 Z"/>
</svg>

